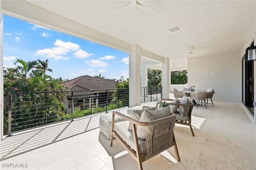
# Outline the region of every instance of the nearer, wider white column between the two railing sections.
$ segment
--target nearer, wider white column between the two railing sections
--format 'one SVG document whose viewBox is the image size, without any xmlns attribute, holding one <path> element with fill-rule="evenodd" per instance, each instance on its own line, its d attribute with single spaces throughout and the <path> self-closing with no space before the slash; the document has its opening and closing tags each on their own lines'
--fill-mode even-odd
<svg viewBox="0 0 256 170">
<path fill-rule="evenodd" d="M 140 50 L 134 44 L 129 53 L 129 107 L 140 106 Z"/>
</svg>

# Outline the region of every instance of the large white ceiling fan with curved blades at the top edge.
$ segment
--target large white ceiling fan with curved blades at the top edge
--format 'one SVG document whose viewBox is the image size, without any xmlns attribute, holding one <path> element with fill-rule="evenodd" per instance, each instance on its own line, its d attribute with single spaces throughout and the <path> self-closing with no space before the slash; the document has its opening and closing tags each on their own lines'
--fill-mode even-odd
<svg viewBox="0 0 256 170">
<path fill-rule="evenodd" d="M 113 10 L 112 12 L 108 13 L 107 16 L 112 16 L 112 15 L 117 14 L 126 9 L 138 10 L 147 16 L 152 16 L 152 17 L 160 16 L 160 14 L 158 12 L 156 12 L 155 10 L 153 10 L 152 8 L 150 8 L 148 6 L 144 6 L 144 5 L 140 4 L 137 0 L 130 0 L 129 4 L 127 4 L 126 6 L 123 6 L 121 8 L 118 8 L 116 10 Z"/>
</svg>

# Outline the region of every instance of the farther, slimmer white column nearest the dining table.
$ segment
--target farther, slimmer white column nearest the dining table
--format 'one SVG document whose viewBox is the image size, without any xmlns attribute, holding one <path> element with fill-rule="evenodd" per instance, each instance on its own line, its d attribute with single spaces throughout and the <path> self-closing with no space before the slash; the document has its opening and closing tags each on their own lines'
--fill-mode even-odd
<svg viewBox="0 0 256 170">
<path fill-rule="evenodd" d="M 162 98 L 170 98 L 170 58 L 164 58 L 162 63 Z"/>
</svg>

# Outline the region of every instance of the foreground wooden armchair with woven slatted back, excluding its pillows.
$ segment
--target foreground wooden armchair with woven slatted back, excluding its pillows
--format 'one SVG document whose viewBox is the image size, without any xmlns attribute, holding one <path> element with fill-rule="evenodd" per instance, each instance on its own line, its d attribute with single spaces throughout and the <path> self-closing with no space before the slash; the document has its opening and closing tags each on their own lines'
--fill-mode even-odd
<svg viewBox="0 0 256 170">
<path fill-rule="evenodd" d="M 128 121 L 114 123 L 112 121 L 112 132 L 110 137 L 110 146 L 113 144 L 113 137 L 122 144 L 122 146 L 138 162 L 138 169 L 142 170 L 142 162 L 160 154 L 164 150 L 174 146 L 176 158 L 180 161 L 178 147 L 174 137 L 174 126 L 176 115 L 162 117 L 148 122 L 140 122 L 128 117 L 120 112 L 112 112 L 112 120 L 118 115 Z M 129 123 L 132 124 L 132 131 L 127 130 Z M 138 139 L 136 126 L 148 127 L 146 140 Z"/>
</svg>

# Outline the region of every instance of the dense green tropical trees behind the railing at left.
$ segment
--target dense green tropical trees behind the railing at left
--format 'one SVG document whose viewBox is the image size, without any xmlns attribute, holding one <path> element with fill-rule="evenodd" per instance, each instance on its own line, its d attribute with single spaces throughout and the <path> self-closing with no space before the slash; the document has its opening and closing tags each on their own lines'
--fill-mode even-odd
<svg viewBox="0 0 256 170">
<path fill-rule="evenodd" d="M 8 101 L 11 95 L 12 131 L 31 128 L 45 123 L 60 121 L 65 105 L 61 97 L 67 90 L 60 79 L 46 75 L 48 60 L 24 61 L 16 68 L 4 68 L 4 133 L 7 133 L 9 122 Z M 56 91 L 56 93 L 45 93 Z M 42 92 L 42 93 L 40 93 Z"/>
</svg>

